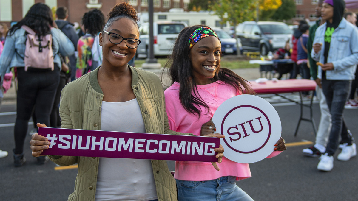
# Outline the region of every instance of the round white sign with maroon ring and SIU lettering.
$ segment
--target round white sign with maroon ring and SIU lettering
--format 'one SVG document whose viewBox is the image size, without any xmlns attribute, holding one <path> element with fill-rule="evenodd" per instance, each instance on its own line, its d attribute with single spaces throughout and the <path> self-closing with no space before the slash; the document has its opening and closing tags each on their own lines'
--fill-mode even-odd
<svg viewBox="0 0 358 201">
<path fill-rule="evenodd" d="M 254 163 L 274 151 L 281 136 L 275 108 L 255 95 L 237 95 L 223 102 L 212 118 L 224 156 L 238 163 Z"/>
</svg>

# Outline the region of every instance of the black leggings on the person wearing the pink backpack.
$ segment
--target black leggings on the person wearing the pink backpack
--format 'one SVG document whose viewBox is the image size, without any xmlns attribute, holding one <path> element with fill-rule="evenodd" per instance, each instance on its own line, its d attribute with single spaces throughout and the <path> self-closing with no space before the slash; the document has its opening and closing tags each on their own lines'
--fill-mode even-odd
<svg viewBox="0 0 358 201">
<path fill-rule="evenodd" d="M 59 83 L 59 68 L 55 70 L 18 68 L 17 114 L 14 128 L 15 154 L 24 152 L 24 141 L 33 108 L 37 119 L 34 123 L 50 125 L 50 113 L 53 107 Z"/>
</svg>

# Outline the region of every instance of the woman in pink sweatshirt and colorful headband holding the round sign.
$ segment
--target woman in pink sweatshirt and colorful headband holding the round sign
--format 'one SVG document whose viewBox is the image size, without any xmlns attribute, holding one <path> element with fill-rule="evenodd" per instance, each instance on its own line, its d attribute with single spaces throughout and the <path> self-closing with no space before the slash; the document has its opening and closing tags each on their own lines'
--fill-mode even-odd
<svg viewBox="0 0 358 201">
<path fill-rule="evenodd" d="M 172 85 L 165 90 L 166 112 L 170 129 L 200 136 L 216 131 L 211 118 L 228 98 L 253 94 L 247 81 L 229 69 L 220 68 L 221 41 L 204 25 L 184 28 L 176 40 L 166 67 Z M 200 131 L 198 125 L 203 125 Z M 286 149 L 281 137 L 268 157 Z M 175 175 L 178 198 L 198 200 L 253 199 L 236 185 L 236 180 L 251 177 L 248 164 L 223 157 L 215 170 L 210 162 L 176 161 Z"/>
</svg>

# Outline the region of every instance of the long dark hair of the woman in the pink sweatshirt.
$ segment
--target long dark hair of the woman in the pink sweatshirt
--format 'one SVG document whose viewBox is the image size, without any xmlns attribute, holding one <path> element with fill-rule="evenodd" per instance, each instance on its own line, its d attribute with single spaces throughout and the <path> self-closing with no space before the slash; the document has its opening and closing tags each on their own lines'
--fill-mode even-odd
<svg viewBox="0 0 358 201">
<path fill-rule="evenodd" d="M 180 83 L 180 103 L 182 103 L 183 107 L 188 112 L 192 114 L 198 114 L 198 118 L 200 118 L 200 113 L 202 112 L 200 110 L 200 106 L 203 106 L 205 108 L 207 114 L 209 113 L 210 108 L 200 97 L 196 88 L 195 79 L 193 78 L 192 74 L 192 63 L 190 62 L 190 59 L 188 57 L 188 41 L 190 34 L 203 26 L 206 25 L 188 26 L 182 31 L 180 31 L 179 36 L 176 39 L 173 47 L 173 53 L 170 55 L 162 72 L 163 75 L 164 70 L 169 68 L 169 77 L 171 78 L 171 84 L 173 84 L 174 82 Z M 252 88 L 247 84 L 247 80 L 241 78 L 236 73 L 232 72 L 232 70 L 229 70 L 227 68 L 221 68 L 220 65 L 218 66 L 218 70 L 216 71 L 214 77 L 211 78 L 212 82 L 216 82 L 218 80 L 221 80 L 222 82 L 231 85 L 238 92 L 246 94 L 255 93 L 253 92 Z"/>
</svg>

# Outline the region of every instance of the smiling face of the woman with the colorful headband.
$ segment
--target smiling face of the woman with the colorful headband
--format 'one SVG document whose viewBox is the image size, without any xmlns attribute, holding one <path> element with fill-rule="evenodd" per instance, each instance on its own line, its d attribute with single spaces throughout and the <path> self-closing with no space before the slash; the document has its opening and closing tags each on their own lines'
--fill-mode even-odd
<svg viewBox="0 0 358 201">
<path fill-rule="evenodd" d="M 215 36 L 207 36 L 199 40 L 190 49 L 189 58 L 192 63 L 192 74 L 197 85 L 212 83 L 220 65 L 221 43 Z"/>
</svg>

